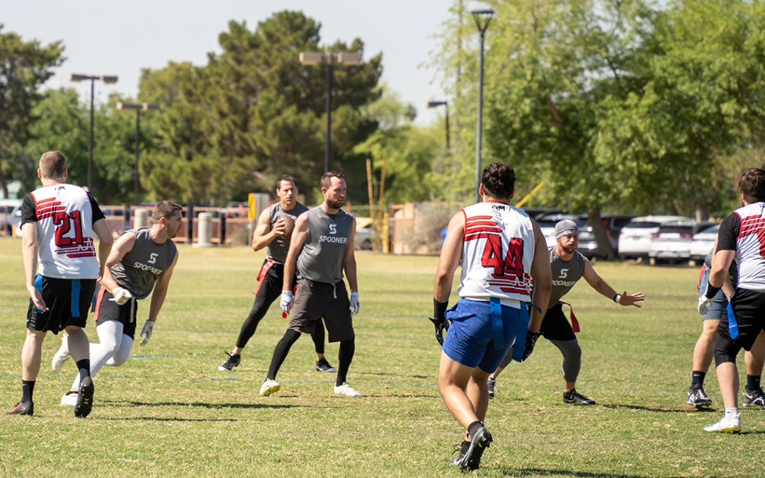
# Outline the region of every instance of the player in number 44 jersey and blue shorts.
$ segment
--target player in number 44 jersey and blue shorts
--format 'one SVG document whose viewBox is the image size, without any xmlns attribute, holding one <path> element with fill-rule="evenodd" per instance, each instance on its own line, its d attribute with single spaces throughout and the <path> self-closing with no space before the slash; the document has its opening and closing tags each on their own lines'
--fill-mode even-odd
<svg viewBox="0 0 765 478">
<path fill-rule="evenodd" d="M 515 180 L 506 163 L 483 170 L 478 190 L 483 202 L 451 218 L 435 276 L 437 338 L 451 320 L 438 367 L 438 392 L 465 430 L 460 453 L 451 461 L 462 470 L 477 470 L 483 450 L 493 440 L 483 425 L 489 405 L 487 378 L 513 343 L 530 347 L 516 359 L 530 353 L 533 343 L 526 337 L 539 330 L 552 288 L 545 236 L 526 213 L 509 205 Z M 447 311 L 460 263 L 460 301 Z M 533 295 L 531 278 L 537 285 Z M 530 321 L 529 302 L 539 306 Z"/>
</svg>

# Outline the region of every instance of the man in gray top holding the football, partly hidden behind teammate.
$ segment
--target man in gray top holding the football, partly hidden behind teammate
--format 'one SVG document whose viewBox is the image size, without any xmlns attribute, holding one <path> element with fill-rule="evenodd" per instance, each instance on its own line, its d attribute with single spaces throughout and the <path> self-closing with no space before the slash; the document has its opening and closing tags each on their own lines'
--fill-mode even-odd
<svg viewBox="0 0 765 478">
<path fill-rule="evenodd" d="M 252 304 L 252 310 L 249 311 L 244 324 L 242 324 L 242 330 L 239 331 L 239 338 L 236 339 L 233 352 L 226 352 L 228 358 L 218 366 L 218 370 L 221 372 L 230 372 L 234 367 L 239 366 L 242 360 L 242 350 L 250 338 L 255 335 L 260 320 L 265 317 L 273 301 L 282 294 L 285 261 L 287 260 L 290 241 L 290 237 L 285 233 L 287 230 L 285 221 L 291 221 L 291 226 L 294 226 L 295 219 L 308 211 L 308 207 L 298 203 L 298 186 L 295 184 L 294 177 L 285 175 L 279 178 L 276 182 L 276 196 L 279 198 L 278 203 L 274 203 L 268 209 L 263 210 L 258 218 L 258 226 L 252 234 L 253 251 L 257 252 L 264 247 L 267 248 L 265 261 L 263 261 L 258 274 L 255 302 Z M 293 276 L 291 281 L 292 288 L 294 288 L 297 278 Z M 311 337 L 314 339 L 316 350 L 316 370 L 318 372 L 337 372 L 324 357 L 324 324 L 321 318 L 317 320 Z"/>
</svg>

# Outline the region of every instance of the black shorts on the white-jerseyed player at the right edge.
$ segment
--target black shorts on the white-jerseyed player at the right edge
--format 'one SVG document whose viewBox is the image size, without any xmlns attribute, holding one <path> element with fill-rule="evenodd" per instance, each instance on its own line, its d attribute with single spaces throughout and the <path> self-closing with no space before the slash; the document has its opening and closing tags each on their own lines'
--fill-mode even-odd
<svg viewBox="0 0 765 478">
<path fill-rule="evenodd" d="M 742 348 L 750 351 L 760 331 L 765 329 L 765 294 L 737 288 L 731 305 L 738 324 L 738 338 L 731 339 L 728 320 L 720 320 L 715 341 L 715 361 L 718 364 L 735 362 Z"/>
</svg>

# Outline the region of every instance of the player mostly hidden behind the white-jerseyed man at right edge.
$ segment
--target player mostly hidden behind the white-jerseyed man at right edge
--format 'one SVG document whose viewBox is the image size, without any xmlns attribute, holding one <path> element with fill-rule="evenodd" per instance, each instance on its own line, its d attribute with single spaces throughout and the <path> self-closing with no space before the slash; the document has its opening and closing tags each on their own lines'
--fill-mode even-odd
<svg viewBox="0 0 765 478">
<path fill-rule="evenodd" d="M 712 256 L 717 249 L 715 246 L 704 259 L 701 276 L 698 281 L 698 296 L 702 297 L 707 291 L 709 283 L 709 271 L 712 267 Z M 688 389 L 688 405 L 704 407 L 711 405 L 711 398 L 704 391 L 704 379 L 712 362 L 712 353 L 715 351 L 715 338 L 720 322 L 728 324 L 728 298 L 733 297 L 734 289 L 738 283 L 738 265 L 734 259 L 731 268 L 728 269 L 728 279 L 724 281 L 722 289 L 715 294 L 711 307 L 706 314 L 702 314 L 702 334 L 698 337 L 693 348 L 693 371 L 691 387 Z M 747 366 L 747 389 L 744 392 L 744 406 L 765 406 L 765 393 L 760 388 L 760 376 L 763 371 L 763 359 L 765 359 L 765 332 L 760 332 L 757 341 L 752 346 L 751 352 L 744 353 L 744 363 Z"/>
</svg>

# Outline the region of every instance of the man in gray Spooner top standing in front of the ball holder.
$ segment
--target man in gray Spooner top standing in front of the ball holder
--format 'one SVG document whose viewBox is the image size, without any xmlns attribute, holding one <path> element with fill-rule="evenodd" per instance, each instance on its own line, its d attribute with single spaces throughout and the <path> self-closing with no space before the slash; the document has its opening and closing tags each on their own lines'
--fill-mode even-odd
<svg viewBox="0 0 765 478">
<path fill-rule="evenodd" d="M 347 397 L 361 396 L 346 382 L 356 333 L 353 316 L 359 312 L 359 288 L 356 282 L 356 256 L 353 255 L 353 235 L 356 219 L 341 207 L 345 203 L 346 184 L 342 173 L 328 172 L 321 177 L 321 206 L 301 214 L 285 262 L 282 299 L 279 306 L 292 319 L 282 340 L 279 340 L 269 366 L 268 376 L 260 387 L 267 397 L 281 388 L 276 374 L 301 333 L 312 333 L 320 318 L 324 318 L 330 342 L 340 342 L 337 380 L 334 392 Z M 292 277 L 297 271 L 298 289 L 292 296 Z M 350 286 L 350 299 L 343 282 L 343 271 Z M 293 307 L 294 304 L 294 307 Z"/>
</svg>

